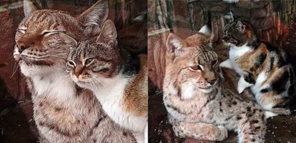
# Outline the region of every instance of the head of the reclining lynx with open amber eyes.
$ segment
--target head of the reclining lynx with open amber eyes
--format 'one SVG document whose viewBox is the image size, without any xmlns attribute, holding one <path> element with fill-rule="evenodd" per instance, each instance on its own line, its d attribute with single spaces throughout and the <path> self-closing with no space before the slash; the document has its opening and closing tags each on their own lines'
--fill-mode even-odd
<svg viewBox="0 0 296 143">
<path fill-rule="evenodd" d="M 187 99 L 196 93 L 209 93 L 217 87 L 221 75 L 217 54 L 206 38 L 197 34 L 181 39 L 168 36 L 164 88 L 173 87 L 178 96 Z M 194 43 L 192 41 L 200 41 Z M 172 89 L 172 88 L 170 88 Z"/>
</svg>

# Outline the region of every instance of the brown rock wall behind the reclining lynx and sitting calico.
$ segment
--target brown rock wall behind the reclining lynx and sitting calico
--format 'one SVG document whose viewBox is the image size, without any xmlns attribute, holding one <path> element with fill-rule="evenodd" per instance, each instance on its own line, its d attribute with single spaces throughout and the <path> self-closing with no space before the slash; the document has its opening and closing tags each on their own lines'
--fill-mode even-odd
<svg viewBox="0 0 296 143">
<path fill-rule="evenodd" d="M 148 57 L 149 78 L 154 85 L 162 87 L 165 69 L 165 41 L 168 33 L 175 32 L 182 38 L 196 33 L 211 15 L 214 25 L 214 40 L 221 43 L 225 20 L 223 15 L 233 13 L 250 21 L 259 37 L 280 46 L 286 46 L 288 26 L 295 18 L 295 1 L 149 1 L 148 14 Z"/>
</svg>

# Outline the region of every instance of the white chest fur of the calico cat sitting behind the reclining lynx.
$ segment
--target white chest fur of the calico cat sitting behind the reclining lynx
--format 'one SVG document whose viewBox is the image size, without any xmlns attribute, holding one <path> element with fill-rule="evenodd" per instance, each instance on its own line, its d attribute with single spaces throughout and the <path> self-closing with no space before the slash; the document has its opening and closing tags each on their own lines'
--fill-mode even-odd
<svg viewBox="0 0 296 143">
<path fill-rule="evenodd" d="M 230 51 L 229 51 L 229 60 L 231 62 L 232 68 L 240 75 L 242 76 L 244 74 L 244 71 L 239 68 L 239 66 L 236 64 L 235 60 L 242 56 L 243 54 L 251 51 L 251 48 L 247 46 L 247 44 L 242 45 L 241 47 L 237 47 L 234 45 L 231 45 Z"/>
</svg>

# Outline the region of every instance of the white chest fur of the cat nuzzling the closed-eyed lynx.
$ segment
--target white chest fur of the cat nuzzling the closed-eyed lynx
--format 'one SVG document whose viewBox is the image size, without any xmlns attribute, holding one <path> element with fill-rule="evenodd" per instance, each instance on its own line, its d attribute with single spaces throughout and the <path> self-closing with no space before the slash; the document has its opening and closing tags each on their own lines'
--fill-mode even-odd
<svg viewBox="0 0 296 143">
<path fill-rule="evenodd" d="M 104 85 L 96 85 L 99 88 L 96 88 L 94 93 L 108 116 L 120 126 L 144 134 L 147 117 L 133 116 L 123 110 L 123 92 L 128 79 L 118 75 L 113 79 L 99 80 Z"/>
</svg>

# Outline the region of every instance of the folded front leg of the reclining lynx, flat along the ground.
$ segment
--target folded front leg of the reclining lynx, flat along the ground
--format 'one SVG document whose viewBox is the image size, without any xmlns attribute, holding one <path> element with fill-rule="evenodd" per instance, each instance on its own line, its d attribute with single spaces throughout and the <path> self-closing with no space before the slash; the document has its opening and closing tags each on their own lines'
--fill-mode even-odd
<svg viewBox="0 0 296 143">
<path fill-rule="evenodd" d="M 189 123 L 177 120 L 170 120 L 170 122 L 178 137 L 191 137 L 210 141 L 222 141 L 227 138 L 227 130 L 223 126 L 205 123 Z"/>
</svg>

